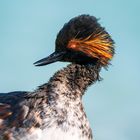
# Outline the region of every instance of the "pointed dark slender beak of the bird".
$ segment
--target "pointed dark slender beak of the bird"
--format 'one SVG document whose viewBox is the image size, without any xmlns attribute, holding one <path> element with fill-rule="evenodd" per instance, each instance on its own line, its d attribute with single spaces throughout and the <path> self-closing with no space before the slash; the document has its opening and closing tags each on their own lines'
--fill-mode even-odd
<svg viewBox="0 0 140 140">
<path fill-rule="evenodd" d="M 65 52 L 54 52 L 48 57 L 45 57 L 37 62 L 34 63 L 35 66 L 44 66 L 50 63 L 54 63 L 56 61 L 61 61 Z"/>
</svg>

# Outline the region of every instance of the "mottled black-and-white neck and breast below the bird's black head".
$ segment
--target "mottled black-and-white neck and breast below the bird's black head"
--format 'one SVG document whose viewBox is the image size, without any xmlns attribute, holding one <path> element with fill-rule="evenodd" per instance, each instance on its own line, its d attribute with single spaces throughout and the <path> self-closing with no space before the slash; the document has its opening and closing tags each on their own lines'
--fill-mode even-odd
<svg viewBox="0 0 140 140">
<path fill-rule="evenodd" d="M 97 65 L 70 64 L 55 73 L 47 84 L 40 86 L 39 92 L 44 94 L 43 98 L 49 104 L 43 107 L 42 112 L 48 113 L 44 116 L 43 128 L 46 124 L 49 127 L 59 126 L 64 131 L 72 130 L 76 135 L 78 133 L 79 137 L 86 135 L 88 139 L 92 139 L 82 95 L 88 86 L 99 80 L 100 69 Z M 46 116 L 50 116 L 50 119 L 45 119 Z"/>
</svg>

